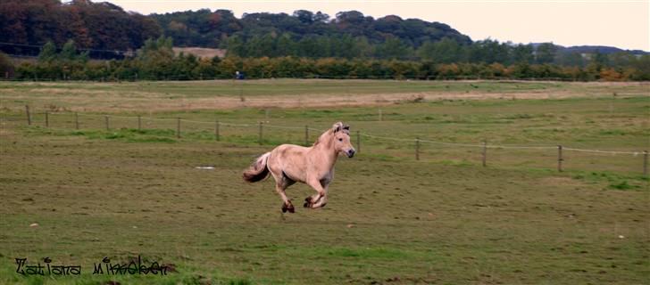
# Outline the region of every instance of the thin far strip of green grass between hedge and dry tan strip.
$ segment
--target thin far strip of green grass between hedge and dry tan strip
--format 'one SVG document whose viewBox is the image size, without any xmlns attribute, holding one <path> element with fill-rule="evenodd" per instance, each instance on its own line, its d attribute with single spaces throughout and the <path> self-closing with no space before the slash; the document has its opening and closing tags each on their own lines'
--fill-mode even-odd
<svg viewBox="0 0 650 285">
<path fill-rule="evenodd" d="M 337 93 L 382 93 L 400 92 L 469 92 L 482 90 L 487 92 L 508 93 L 513 91 L 555 90 L 566 88 L 567 83 L 543 82 L 462 82 L 462 81 L 396 81 L 396 80 L 296 80 L 296 79 L 267 79 L 267 80 L 216 80 L 195 82 L 123 82 L 121 84 L 97 83 L 34 83 L 34 84 L 4 84 L 4 88 L 32 91 L 36 88 L 53 89 L 82 89 L 95 92 L 131 92 L 167 94 L 170 96 L 206 96 L 228 95 L 257 96 L 268 94 L 337 94 Z"/>
</svg>

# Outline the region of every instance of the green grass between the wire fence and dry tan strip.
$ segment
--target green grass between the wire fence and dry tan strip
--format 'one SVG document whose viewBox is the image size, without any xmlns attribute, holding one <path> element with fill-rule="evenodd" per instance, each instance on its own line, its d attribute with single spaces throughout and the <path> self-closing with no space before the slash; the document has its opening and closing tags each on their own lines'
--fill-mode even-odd
<svg viewBox="0 0 650 285">
<path fill-rule="evenodd" d="M 109 131 L 104 115 L 84 113 L 79 116 L 79 134 L 88 138 L 115 139 L 126 142 L 176 142 L 177 121 L 182 118 L 180 141 L 213 141 L 214 121 L 221 122 L 221 141 L 235 144 L 257 144 L 258 124 L 263 121 L 262 143 L 276 145 L 284 142 L 305 144 L 304 126 L 312 128 L 308 143 L 318 137 L 313 129 L 326 129 L 337 120 L 352 126 L 353 142 L 356 131 L 383 137 L 413 140 L 387 141 L 362 137 L 362 149 L 372 155 L 390 159 L 412 159 L 414 140 L 455 142 L 479 145 L 563 145 L 589 150 L 631 151 L 637 155 L 607 155 L 564 151 L 564 167 L 573 170 L 615 171 L 639 173 L 641 151 L 648 149 L 647 110 L 638 108 L 649 104 L 647 97 L 617 99 L 571 98 L 562 100 L 482 100 L 434 101 L 400 103 L 375 107 L 342 107 L 335 110 L 301 109 L 236 109 L 163 111 L 142 117 L 142 130 L 137 131 L 137 118 L 131 113 L 112 114 Z M 382 121 L 379 121 L 379 109 Z M 122 117 L 122 116 L 130 117 Z M 24 124 L 24 114 L 7 111 L 6 116 Z M 76 134 L 74 114 L 50 114 L 50 128 L 45 129 L 42 113 L 33 114 L 35 126 L 28 133 L 45 132 L 61 135 Z M 161 120 L 162 119 L 162 120 Z M 203 122 L 203 123 L 201 123 Z M 230 126 L 246 124 L 246 126 Z M 295 127 L 285 129 L 281 127 Z M 421 143 L 421 159 L 477 163 L 479 148 Z M 488 165 L 496 167 L 554 168 L 556 151 L 489 149 Z"/>
</svg>

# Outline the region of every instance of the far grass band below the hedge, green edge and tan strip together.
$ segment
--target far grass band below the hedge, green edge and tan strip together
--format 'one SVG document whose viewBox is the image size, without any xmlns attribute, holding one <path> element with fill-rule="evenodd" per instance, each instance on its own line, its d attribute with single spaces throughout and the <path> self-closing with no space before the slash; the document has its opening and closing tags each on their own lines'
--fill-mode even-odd
<svg viewBox="0 0 650 285">
<path fill-rule="evenodd" d="M 420 102 L 421 95 L 490 96 L 513 98 L 566 98 L 571 96 L 614 100 L 647 95 L 646 83 L 566 83 L 519 81 L 397 81 L 397 80 L 326 80 L 264 79 L 180 82 L 0 82 L 2 107 L 22 110 L 210 110 L 245 107 L 250 102 L 277 106 L 273 98 L 288 98 L 318 103 L 318 99 L 364 95 L 362 104 L 394 102 L 385 95 L 401 94 L 402 102 Z M 612 94 L 617 94 L 615 97 Z M 267 100 L 267 101 L 264 101 Z M 309 101 L 312 100 L 312 101 Z M 471 103 L 470 103 L 471 104 Z M 498 102 L 496 104 L 499 104 Z M 279 104 L 282 106 L 282 104 Z M 642 107 L 642 106 L 638 106 Z M 646 107 L 647 108 L 647 107 Z"/>
</svg>

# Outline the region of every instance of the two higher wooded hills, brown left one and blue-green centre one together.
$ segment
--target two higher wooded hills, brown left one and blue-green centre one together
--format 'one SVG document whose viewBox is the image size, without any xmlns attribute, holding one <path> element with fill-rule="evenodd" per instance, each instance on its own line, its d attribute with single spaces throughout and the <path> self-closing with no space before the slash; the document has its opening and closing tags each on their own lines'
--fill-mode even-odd
<svg viewBox="0 0 650 285">
<path fill-rule="evenodd" d="M 0 1 L 0 49 L 4 53 L 37 55 L 52 41 L 73 40 L 79 49 L 135 50 L 147 38 L 167 36 L 176 46 L 221 47 L 247 57 L 394 57 L 405 50 L 447 37 L 460 45 L 470 37 L 438 22 L 386 16 L 373 19 L 362 12 L 248 13 L 237 18 L 228 10 L 141 15 L 109 2 L 90 0 Z"/>
</svg>

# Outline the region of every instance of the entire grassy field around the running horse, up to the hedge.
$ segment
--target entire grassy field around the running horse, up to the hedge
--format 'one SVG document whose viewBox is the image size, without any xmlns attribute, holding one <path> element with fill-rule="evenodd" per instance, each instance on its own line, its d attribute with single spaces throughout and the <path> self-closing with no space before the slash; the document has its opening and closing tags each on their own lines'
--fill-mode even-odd
<svg viewBox="0 0 650 285">
<path fill-rule="evenodd" d="M 273 145 L 304 143 L 305 125 L 325 129 L 337 120 L 353 134 L 399 139 L 644 151 L 647 87 L 0 83 L 0 283 L 647 284 L 642 155 L 565 151 L 558 173 L 554 149 L 488 149 L 481 167 L 479 148 L 421 143 L 416 161 L 412 142 L 362 137 L 359 155 L 337 163 L 328 206 L 285 216 L 272 180 L 240 179 Z M 274 97 L 301 103 L 278 108 Z M 347 97 L 365 99 L 340 100 Z M 229 100 L 238 103 L 222 103 Z M 79 130 L 71 111 L 82 114 Z M 184 119 L 181 138 L 176 118 Z M 224 125 L 215 142 L 215 119 L 251 126 Z M 258 121 L 268 125 L 262 145 Z M 215 169 L 196 169 L 208 165 Z M 311 193 L 302 184 L 287 191 L 298 201 Z M 91 274 L 104 256 L 124 263 L 138 255 L 175 270 Z M 81 265 L 83 275 L 14 273 L 14 258 L 46 256 L 53 265 Z"/>
</svg>

